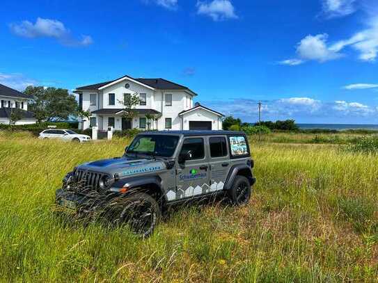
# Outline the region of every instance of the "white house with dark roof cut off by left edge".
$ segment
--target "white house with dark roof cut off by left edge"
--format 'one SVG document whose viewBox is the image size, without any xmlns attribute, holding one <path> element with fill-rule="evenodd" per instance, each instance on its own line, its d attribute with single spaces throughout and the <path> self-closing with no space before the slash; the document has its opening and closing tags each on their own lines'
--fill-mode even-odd
<svg viewBox="0 0 378 283">
<path fill-rule="evenodd" d="M 0 83 L 0 124 L 10 124 L 10 115 L 15 108 L 19 108 L 22 119 L 16 124 L 36 124 L 34 114 L 28 111 L 28 103 L 31 97 L 22 92 L 8 88 Z"/>
</svg>

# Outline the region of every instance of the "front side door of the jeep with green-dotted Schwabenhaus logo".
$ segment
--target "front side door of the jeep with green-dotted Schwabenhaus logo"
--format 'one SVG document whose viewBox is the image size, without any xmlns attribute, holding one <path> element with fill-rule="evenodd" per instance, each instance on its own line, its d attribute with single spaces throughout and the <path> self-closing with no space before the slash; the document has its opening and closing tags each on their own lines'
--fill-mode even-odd
<svg viewBox="0 0 378 283">
<path fill-rule="evenodd" d="M 187 137 L 180 154 L 191 152 L 191 158 L 178 164 L 176 199 L 194 197 L 210 192 L 210 176 L 206 137 Z"/>
</svg>

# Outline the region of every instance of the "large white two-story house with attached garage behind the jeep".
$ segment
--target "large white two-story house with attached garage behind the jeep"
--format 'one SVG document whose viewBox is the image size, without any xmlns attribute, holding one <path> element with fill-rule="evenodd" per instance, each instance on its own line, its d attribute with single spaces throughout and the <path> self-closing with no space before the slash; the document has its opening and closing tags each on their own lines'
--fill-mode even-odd
<svg viewBox="0 0 378 283">
<path fill-rule="evenodd" d="M 81 86 L 74 90 L 79 106 L 90 111 L 90 119 L 79 120 L 80 129 L 97 126 L 104 131 L 132 128 L 155 130 L 222 129 L 223 115 L 195 104 L 196 93 L 166 79 L 135 79 L 123 76 L 113 81 Z M 136 116 L 123 115 L 125 95 L 139 95 Z M 147 117 L 146 117 L 147 116 Z M 148 119 L 150 118 L 150 119 Z"/>
</svg>

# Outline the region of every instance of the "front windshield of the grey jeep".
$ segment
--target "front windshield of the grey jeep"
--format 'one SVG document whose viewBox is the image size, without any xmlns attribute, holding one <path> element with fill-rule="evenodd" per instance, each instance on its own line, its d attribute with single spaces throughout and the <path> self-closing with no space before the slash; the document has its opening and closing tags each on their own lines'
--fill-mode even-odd
<svg viewBox="0 0 378 283">
<path fill-rule="evenodd" d="M 126 154 L 171 157 L 178 145 L 178 138 L 178 136 L 139 135 L 129 145 Z"/>
</svg>

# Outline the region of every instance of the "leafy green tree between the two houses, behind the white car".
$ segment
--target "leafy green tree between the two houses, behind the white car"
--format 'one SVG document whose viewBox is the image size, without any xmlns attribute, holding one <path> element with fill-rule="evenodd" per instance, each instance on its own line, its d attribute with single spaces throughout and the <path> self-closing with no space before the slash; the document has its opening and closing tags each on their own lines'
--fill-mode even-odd
<svg viewBox="0 0 378 283">
<path fill-rule="evenodd" d="M 77 101 L 74 95 L 63 88 L 45 88 L 43 86 L 28 86 L 24 91 L 33 100 L 29 104 L 38 122 L 52 120 L 67 120 L 77 113 Z"/>
</svg>

